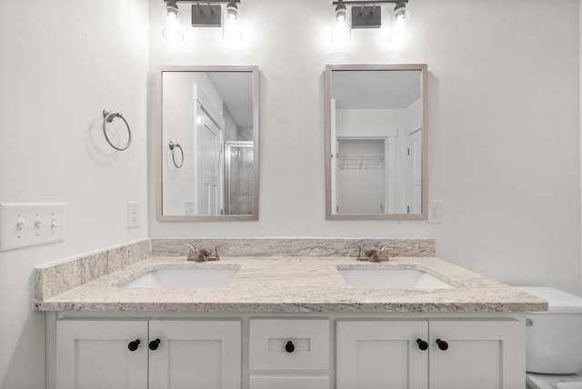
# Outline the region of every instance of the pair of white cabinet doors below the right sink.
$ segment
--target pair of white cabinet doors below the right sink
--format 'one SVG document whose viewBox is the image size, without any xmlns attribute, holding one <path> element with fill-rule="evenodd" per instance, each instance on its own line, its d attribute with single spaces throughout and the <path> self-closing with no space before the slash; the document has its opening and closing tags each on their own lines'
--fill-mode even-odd
<svg viewBox="0 0 582 389">
<path fill-rule="evenodd" d="M 338 320 L 336 388 L 525 387 L 523 325 L 511 319 Z"/>
</svg>

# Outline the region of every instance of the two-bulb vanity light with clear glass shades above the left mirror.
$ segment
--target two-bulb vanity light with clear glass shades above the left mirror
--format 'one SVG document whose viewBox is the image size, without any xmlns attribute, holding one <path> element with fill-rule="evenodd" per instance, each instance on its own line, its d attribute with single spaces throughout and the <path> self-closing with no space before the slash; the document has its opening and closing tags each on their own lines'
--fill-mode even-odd
<svg viewBox="0 0 582 389">
<path fill-rule="evenodd" d="M 223 36 L 228 41 L 240 41 L 243 37 L 241 29 L 241 17 L 237 3 L 240 0 L 210 0 L 199 2 L 196 0 L 163 0 L 164 7 L 164 29 L 162 35 L 172 42 L 182 42 L 184 34 L 182 32 L 182 14 L 178 10 L 177 3 L 192 5 L 193 27 L 223 27 Z M 223 13 L 222 5 L 226 5 Z"/>
</svg>

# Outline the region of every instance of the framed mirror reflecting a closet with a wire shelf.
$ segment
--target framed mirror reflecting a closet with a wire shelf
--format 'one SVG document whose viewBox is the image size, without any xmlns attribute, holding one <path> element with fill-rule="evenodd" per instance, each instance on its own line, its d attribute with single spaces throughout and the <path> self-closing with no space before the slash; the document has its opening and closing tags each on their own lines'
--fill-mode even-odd
<svg viewBox="0 0 582 389">
<path fill-rule="evenodd" d="M 326 65 L 327 219 L 426 219 L 426 65 Z"/>
</svg>

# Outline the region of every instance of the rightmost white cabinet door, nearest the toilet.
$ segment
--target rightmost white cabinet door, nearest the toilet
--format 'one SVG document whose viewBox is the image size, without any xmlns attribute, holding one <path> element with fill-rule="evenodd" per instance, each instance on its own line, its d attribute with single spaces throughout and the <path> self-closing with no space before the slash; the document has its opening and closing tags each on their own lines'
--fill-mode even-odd
<svg viewBox="0 0 582 389">
<path fill-rule="evenodd" d="M 521 322 L 431 321 L 429 327 L 431 389 L 526 387 Z M 447 350 L 439 348 L 437 339 L 447 342 Z"/>
</svg>

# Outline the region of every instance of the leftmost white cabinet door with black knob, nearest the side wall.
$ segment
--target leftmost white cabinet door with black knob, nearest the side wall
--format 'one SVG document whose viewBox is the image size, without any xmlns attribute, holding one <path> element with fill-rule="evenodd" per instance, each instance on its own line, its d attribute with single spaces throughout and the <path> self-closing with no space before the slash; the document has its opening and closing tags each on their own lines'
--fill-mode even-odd
<svg viewBox="0 0 582 389">
<path fill-rule="evenodd" d="M 55 357 L 59 389 L 146 389 L 147 322 L 57 321 Z"/>
</svg>

